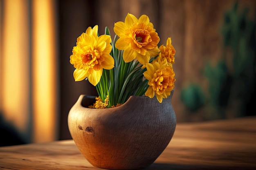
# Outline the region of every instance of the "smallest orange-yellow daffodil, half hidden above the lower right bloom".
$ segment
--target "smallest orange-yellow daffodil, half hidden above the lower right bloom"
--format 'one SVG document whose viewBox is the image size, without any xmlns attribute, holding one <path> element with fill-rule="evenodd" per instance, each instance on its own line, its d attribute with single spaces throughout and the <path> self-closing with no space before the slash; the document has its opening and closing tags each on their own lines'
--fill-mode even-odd
<svg viewBox="0 0 256 170">
<path fill-rule="evenodd" d="M 164 58 L 167 59 L 168 65 L 174 64 L 174 55 L 176 53 L 173 45 L 171 44 L 171 38 L 168 38 L 166 41 L 166 46 L 161 45 L 159 46 L 159 58 L 161 60 L 164 60 Z"/>
</svg>

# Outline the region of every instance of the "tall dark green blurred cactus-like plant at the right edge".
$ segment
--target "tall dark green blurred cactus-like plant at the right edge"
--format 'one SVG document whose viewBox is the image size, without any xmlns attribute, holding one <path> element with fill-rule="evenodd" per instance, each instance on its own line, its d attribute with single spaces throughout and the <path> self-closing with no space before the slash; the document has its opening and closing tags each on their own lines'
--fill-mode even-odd
<svg viewBox="0 0 256 170">
<path fill-rule="evenodd" d="M 221 28 L 225 62 L 229 60 L 231 50 L 232 64 L 229 66 L 230 73 L 227 76 L 232 80 L 230 99 L 239 101 L 241 105 L 236 113 L 237 116 L 250 114 L 248 110 L 252 106 L 253 98 L 255 99 L 256 24 L 249 19 L 248 12 L 247 7 L 240 13 L 236 1 L 234 6 L 225 12 Z M 229 90 L 227 88 L 225 91 Z"/>
</svg>

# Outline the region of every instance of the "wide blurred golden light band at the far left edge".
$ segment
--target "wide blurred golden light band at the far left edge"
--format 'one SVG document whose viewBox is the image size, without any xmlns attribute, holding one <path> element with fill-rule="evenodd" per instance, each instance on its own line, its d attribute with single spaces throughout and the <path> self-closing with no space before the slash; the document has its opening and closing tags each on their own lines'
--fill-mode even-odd
<svg viewBox="0 0 256 170">
<path fill-rule="evenodd" d="M 9 123 L 26 133 L 30 113 L 28 4 L 5 0 L 2 8 L 0 110 Z"/>
</svg>

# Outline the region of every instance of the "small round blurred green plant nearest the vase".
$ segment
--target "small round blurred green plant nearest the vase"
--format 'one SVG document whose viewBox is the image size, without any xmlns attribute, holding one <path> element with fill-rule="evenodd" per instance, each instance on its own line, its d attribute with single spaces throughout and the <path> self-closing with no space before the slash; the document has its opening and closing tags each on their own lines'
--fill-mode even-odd
<svg viewBox="0 0 256 170">
<path fill-rule="evenodd" d="M 197 111 L 205 104 L 204 93 L 198 84 L 189 84 L 189 86 L 183 88 L 180 98 L 185 107 L 192 112 Z"/>
</svg>

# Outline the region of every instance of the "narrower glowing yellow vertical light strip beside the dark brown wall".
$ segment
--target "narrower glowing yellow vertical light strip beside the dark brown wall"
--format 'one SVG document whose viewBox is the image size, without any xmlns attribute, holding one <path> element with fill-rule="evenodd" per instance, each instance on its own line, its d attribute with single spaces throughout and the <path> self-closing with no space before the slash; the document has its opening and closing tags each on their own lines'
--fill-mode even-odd
<svg viewBox="0 0 256 170">
<path fill-rule="evenodd" d="M 56 139 L 57 48 L 54 1 L 32 1 L 34 142 Z"/>
</svg>

